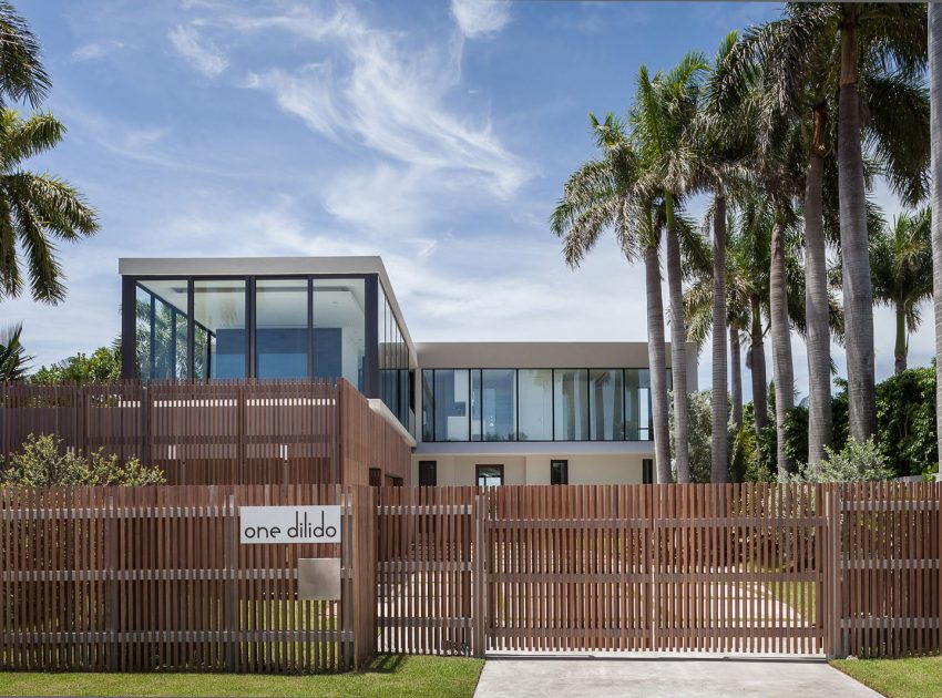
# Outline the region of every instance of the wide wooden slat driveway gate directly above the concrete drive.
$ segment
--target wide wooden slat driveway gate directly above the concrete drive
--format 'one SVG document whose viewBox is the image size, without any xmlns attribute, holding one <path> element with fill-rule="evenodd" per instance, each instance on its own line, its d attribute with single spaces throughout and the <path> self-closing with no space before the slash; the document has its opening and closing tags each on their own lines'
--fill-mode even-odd
<svg viewBox="0 0 942 698">
<path fill-rule="evenodd" d="M 490 650 L 820 654 L 808 486 L 489 492 Z"/>
</svg>

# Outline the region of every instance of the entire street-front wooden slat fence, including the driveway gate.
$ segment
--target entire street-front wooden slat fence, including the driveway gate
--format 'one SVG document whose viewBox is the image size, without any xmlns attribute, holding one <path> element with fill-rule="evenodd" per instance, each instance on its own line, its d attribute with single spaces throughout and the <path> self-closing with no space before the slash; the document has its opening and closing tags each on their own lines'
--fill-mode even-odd
<svg viewBox="0 0 942 698">
<path fill-rule="evenodd" d="M 0 667 L 321 671 L 376 649 L 939 651 L 942 485 L 0 490 Z M 239 545 L 341 503 L 344 545 Z M 340 556 L 339 602 L 299 557 Z"/>
</svg>

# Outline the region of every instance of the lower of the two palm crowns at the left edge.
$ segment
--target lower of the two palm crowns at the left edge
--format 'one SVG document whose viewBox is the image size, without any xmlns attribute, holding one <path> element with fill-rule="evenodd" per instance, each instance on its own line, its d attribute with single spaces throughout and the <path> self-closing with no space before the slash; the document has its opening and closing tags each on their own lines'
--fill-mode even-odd
<svg viewBox="0 0 942 698">
<path fill-rule="evenodd" d="M 21 166 L 58 144 L 63 132 L 51 114 L 23 120 L 13 110 L 0 111 L 0 299 L 19 296 L 28 276 L 33 299 L 61 300 L 65 287 L 50 238 L 74 242 L 98 230 L 95 212 L 75 188 Z"/>
</svg>

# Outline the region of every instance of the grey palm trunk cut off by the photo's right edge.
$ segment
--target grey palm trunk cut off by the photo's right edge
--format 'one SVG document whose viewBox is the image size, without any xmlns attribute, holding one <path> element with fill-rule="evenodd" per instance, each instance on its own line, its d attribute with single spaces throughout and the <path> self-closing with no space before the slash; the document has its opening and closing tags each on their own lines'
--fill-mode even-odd
<svg viewBox="0 0 942 698">
<path fill-rule="evenodd" d="M 936 458 L 942 462 L 942 7 L 929 3 L 929 97 L 932 134 L 932 287 L 935 310 Z"/>
</svg>

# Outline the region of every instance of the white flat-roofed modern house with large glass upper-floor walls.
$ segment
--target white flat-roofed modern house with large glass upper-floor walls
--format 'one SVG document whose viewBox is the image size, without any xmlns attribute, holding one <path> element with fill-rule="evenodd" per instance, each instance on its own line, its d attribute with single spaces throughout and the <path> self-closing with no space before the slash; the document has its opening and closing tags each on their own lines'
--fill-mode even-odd
<svg viewBox="0 0 942 698">
<path fill-rule="evenodd" d="M 422 485 L 652 481 L 644 342 L 414 343 L 379 257 L 119 270 L 125 378 L 345 378 L 413 446 Z"/>
</svg>

